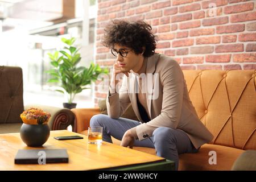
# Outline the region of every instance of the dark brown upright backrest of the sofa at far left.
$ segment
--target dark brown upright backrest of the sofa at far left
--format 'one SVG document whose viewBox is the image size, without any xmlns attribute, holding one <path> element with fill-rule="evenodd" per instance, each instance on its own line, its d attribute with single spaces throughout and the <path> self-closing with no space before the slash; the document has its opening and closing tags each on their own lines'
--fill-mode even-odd
<svg viewBox="0 0 256 182">
<path fill-rule="evenodd" d="M 23 110 L 22 69 L 0 66 L 0 123 L 22 122 Z"/>
</svg>

